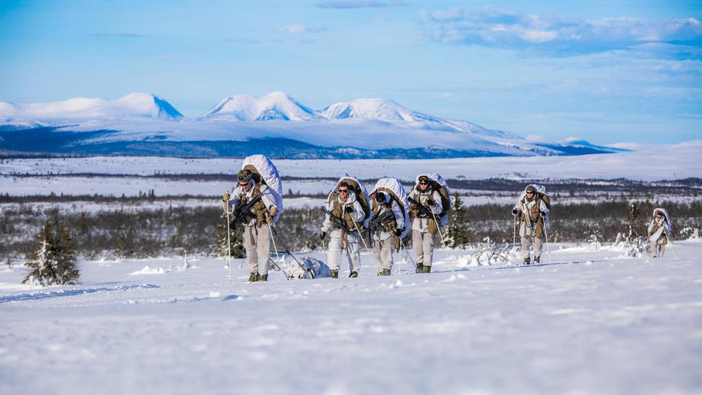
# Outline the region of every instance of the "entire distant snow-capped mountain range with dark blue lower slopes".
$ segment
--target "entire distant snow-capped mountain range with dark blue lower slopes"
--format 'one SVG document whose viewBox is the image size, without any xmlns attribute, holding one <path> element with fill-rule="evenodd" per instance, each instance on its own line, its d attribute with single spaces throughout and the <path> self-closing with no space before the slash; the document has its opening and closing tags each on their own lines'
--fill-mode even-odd
<svg viewBox="0 0 702 395">
<path fill-rule="evenodd" d="M 248 143 L 247 143 L 248 142 Z M 255 147 L 253 147 L 255 145 Z M 337 102 L 315 111 L 283 92 L 234 95 L 188 119 L 150 93 L 117 100 L 0 102 L 0 149 L 13 152 L 289 158 L 441 158 L 616 152 L 585 141 L 533 142 L 392 100 Z"/>
</svg>

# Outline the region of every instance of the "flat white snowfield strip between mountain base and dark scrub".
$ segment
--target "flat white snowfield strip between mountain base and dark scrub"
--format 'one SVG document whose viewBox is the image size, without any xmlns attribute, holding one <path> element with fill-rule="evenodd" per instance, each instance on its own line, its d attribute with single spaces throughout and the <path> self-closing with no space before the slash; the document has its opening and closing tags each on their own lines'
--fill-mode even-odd
<svg viewBox="0 0 702 395">
<path fill-rule="evenodd" d="M 677 180 L 702 177 L 699 158 L 702 140 L 617 154 L 583 156 L 492 157 L 463 159 L 274 160 L 286 177 L 337 178 L 345 173 L 358 178 L 395 177 L 414 180 L 419 173 L 435 172 L 444 178 L 510 178 L 562 180 L 628 178 Z M 179 159 L 93 156 L 74 159 L 4 159 L 0 175 L 11 174 L 213 174 L 236 173 L 241 159 Z M 5 183 L 5 179 L 1 182 Z"/>
</svg>

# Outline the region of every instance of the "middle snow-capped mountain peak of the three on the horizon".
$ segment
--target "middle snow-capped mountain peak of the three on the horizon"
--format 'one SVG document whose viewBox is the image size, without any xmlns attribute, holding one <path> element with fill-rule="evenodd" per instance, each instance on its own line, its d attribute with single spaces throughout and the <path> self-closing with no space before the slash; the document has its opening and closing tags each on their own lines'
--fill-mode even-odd
<svg viewBox="0 0 702 395">
<path fill-rule="evenodd" d="M 272 92 L 263 98 L 253 95 L 224 98 L 200 116 L 200 119 L 220 121 L 312 121 L 321 118 L 283 92 Z"/>
</svg>

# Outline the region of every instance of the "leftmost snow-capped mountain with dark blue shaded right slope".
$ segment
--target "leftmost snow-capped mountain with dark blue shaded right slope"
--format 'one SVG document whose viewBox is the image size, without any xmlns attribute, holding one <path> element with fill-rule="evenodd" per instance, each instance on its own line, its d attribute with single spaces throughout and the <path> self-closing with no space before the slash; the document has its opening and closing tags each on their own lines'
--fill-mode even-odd
<svg viewBox="0 0 702 395">
<path fill-rule="evenodd" d="M 4 123 L 52 123 L 53 120 L 183 118 L 169 102 L 150 93 L 131 93 L 117 100 L 74 98 L 61 102 L 0 102 Z"/>
</svg>

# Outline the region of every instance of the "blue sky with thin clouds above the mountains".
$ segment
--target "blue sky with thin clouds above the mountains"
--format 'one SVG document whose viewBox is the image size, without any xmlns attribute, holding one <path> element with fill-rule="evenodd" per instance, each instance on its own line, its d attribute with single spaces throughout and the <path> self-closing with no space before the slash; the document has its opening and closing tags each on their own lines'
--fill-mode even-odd
<svg viewBox="0 0 702 395">
<path fill-rule="evenodd" d="M 699 1 L 0 2 L 0 101 L 284 91 L 524 137 L 702 138 Z"/>
</svg>

